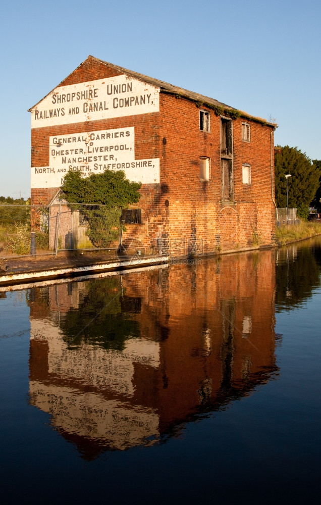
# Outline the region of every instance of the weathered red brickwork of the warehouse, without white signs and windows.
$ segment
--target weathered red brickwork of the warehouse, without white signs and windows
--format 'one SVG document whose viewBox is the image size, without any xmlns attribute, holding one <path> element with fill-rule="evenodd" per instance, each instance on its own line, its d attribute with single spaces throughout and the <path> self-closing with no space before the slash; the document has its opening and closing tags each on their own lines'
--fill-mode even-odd
<svg viewBox="0 0 321 505">
<path fill-rule="evenodd" d="M 32 171 L 34 167 L 50 166 L 49 137 L 134 127 L 135 160 L 159 159 L 159 180 L 142 185 L 138 204 L 142 223 L 127 225 L 124 240 L 136 238 L 146 252 L 162 250 L 173 257 L 273 243 L 275 125 L 245 113 L 232 119 L 231 109 L 216 100 L 93 57 L 88 57 L 55 89 L 59 92 L 63 86 L 124 74 L 159 90 L 159 110 L 103 119 L 88 115 L 88 121 L 70 124 L 61 124 L 61 120 L 55 124 L 54 118 L 49 126 L 33 124 Z M 30 110 L 32 114 L 43 100 Z M 208 131 L 200 128 L 201 111 L 209 115 Z M 232 138 L 227 156 L 231 167 L 228 198 L 223 197 L 222 118 L 228 120 Z M 244 123 L 249 131 L 246 140 Z M 208 180 L 200 178 L 201 157 L 209 159 Z M 249 171 L 245 182 L 244 164 Z M 32 204 L 48 204 L 58 190 L 58 185 L 32 187 Z"/>
</svg>

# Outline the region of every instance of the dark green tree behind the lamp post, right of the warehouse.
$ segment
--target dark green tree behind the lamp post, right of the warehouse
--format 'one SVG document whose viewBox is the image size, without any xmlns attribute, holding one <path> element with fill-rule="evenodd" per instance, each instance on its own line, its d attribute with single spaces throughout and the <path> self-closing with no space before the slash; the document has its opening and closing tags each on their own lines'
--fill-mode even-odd
<svg viewBox="0 0 321 505">
<path fill-rule="evenodd" d="M 275 157 L 276 203 L 278 207 L 287 206 L 286 174 L 288 180 L 289 207 L 297 208 L 298 215 L 306 218 L 308 208 L 319 187 L 321 167 L 316 166 L 297 147 L 282 147 Z"/>
</svg>

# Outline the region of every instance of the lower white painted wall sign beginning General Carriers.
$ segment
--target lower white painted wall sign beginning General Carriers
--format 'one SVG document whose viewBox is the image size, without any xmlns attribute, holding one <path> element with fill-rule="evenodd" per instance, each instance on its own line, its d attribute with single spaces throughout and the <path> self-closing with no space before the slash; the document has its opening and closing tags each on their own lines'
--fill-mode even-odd
<svg viewBox="0 0 321 505">
<path fill-rule="evenodd" d="M 68 170 L 102 173 L 124 170 L 143 184 L 159 182 L 159 159 L 135 160 L 134 127 L 49 137 L 49 167 L 31 168 L 32 188 L 58 188 Z"/>
</svg>

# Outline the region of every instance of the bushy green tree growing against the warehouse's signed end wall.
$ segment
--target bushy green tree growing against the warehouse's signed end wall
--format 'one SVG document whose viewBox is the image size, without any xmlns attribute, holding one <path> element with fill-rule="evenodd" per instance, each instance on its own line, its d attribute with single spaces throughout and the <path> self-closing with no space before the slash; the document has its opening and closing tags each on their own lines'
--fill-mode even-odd
<svg viewBox="0 0 321 505">
<path fill-rule="evenodd" d="M 118 238 L 121 209 L 140 198 L 139 182 L 126 179 L 122 170 L 106 170 L 83 177 L 80 172 L 67 173 L 61 198 L 79 210 L 88 222 L 88 237 L 96 247 L 108 247 Z M 104 207 L 100 207 L 100 206 Z"/>
</svg>

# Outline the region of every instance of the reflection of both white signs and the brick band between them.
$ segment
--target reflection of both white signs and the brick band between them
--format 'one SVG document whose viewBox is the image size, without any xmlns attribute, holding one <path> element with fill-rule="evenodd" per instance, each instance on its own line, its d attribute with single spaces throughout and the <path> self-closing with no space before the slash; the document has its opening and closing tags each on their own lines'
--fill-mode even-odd
<svg viewBox="0 0 321 505">
<path fill-rule="evenodd" d="M 124 352 L 86 345 L 68 350 L 59 328 L 31 319 L 30 398 L 76 437 L 122 449 L 158 434 L 153 409 L 133 403 L 134 364 L 157 367 L 158 344 L 129 340 Z M 45 338 L 43 338 L 45 335 Z M 33 373 L 33 363 L 41 367 Z"/>
</svg>

